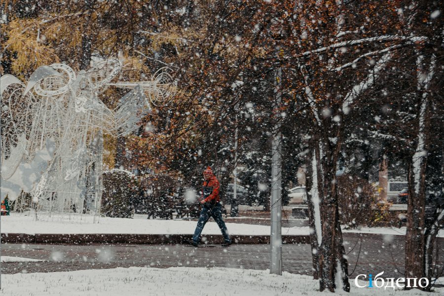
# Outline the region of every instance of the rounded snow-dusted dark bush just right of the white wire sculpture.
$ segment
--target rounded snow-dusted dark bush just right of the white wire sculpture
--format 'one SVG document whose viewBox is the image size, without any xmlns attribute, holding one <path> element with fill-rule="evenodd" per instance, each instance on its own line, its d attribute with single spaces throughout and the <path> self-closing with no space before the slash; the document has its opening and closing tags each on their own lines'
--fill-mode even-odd
<svg viewBox="0 0 444 296">
<path fill-rule="evenodd" d="M 139 181 L 131 172 L 119 169 L 103 173 L 101 212 L 106 217 L 133 218 L 133 198 L 139 190 Z"/>
</svg>

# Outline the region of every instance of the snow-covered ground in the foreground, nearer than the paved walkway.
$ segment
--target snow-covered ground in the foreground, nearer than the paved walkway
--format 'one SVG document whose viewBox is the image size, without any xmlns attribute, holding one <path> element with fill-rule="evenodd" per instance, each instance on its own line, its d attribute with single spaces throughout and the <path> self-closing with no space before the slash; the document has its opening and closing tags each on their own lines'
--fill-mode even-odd
<svg viewBox="0 0 444 296">
<path fill-rule="evenodd" d="M 350 280 L 351 293 L 337 295 L 414 296 L 430 295 L 419 290 L 358 288 Z M 361 286 L 366 282 L 360 281 Z M 282 276 L 267 270 L 222 267 L 170 267 L 166 269 L 130 267 L 92 269 L 50 273 L 17 273 L 1 275 L 1 295 L 94 295 L 94 296 L 327 296 L 319 292 L 319 282 L 312 277 L 283 272 Z M 444 295 L 444 288 L 435 289 Z"/>
</svg>

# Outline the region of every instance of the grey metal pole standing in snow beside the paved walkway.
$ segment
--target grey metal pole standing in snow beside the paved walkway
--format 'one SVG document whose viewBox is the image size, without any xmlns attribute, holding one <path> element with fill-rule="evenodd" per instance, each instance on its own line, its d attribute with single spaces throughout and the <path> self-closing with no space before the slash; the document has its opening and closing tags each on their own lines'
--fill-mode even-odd
<svg viewBox="0 0 444 296">
<path fill-rule="evenodd" d="M 281 103 L 281 79 L 282 68 L 276 71 L 275 95 L 276 107 Z M 281 124 L 276 115 L 276 123 L 273 129 L 273 142 L 271 147 L 271 236 L 270 236 L 270 273 L 282 274 L 282 175 L 281 175 Z"/>
</svg>

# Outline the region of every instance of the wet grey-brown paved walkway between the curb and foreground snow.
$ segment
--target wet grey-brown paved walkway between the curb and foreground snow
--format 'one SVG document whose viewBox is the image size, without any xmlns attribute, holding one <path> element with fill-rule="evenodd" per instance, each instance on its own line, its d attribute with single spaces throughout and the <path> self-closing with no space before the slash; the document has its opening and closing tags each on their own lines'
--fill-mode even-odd
<svg viewBox="0 0 444 296">
<path fill-rule="evenodd" d="M 362 239 L 362 246 L 361 246 Z M 404 271 L 404 243 L 401 235 L 345 233 L 344 242 L 351 277 L 377 274 L 401 277 Z M 439 239 L 440 262 L 444 262 L 444 239 Z M 360 250 L 361 248 L 361 250 Z M 231 268 L 269 268 L 269 245 L 232 245 L 228 248 L 194 248 L 186 245 L 35 245 L 2 244 L 2 256 L 46 259 L 44 262 L 1 264 L 1 273 L 54 272 L 129 266 L 170 266 Z M 358 260 L 359 255 L 359 260 Z M 309 244 L 285 244 L 282 247 L 284 271 L 311 274 Z M 356 262 L 358 264 L 356 265 Z M 356 268 L 355 268 L 356 265 Z"/>
</svg>

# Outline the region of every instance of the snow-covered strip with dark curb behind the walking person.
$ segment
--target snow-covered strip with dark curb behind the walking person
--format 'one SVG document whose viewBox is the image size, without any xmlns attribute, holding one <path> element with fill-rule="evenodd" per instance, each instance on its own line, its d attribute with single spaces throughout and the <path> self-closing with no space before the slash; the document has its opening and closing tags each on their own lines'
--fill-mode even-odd
<svg viewBox="0 0 444 296">
<path fill-rule="evenodd" d="M 98 222 L 97 222 L 98 221 Z M 270 227 L 246 223 L 226 223 L 237 243 L 268 243 Z M 86 215 L 35 217 L 13 213 L 1 218 L 2 240 L 10 243 L 180 243 L 189 238 L 196 221 L 148 220 L 123 218 L 96 218 Z M 405 235 L 406 227 L 362 227 L 343 230 L 344 233 Z M 210 243 L 222 241 L 221 231 L 215 222 L 208 222 L 202 232 Z M 309 227 L 282 227 L 287 243 L 309 243 Z M 440 230 L 444 237 L 444 230 Z"/>
</svg>

